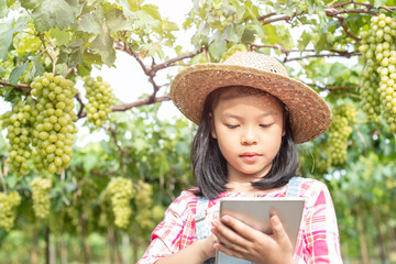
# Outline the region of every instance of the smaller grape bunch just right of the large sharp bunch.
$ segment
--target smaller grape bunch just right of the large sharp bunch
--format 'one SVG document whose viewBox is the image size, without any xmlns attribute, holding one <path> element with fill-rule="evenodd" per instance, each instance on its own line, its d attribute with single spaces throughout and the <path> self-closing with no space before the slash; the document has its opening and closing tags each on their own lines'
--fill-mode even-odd
<svg viewBox="0 0 396 264">
<path fill-rule="evenodd" d="M 110 107 L 114 101 L 112 89 L 109 84 L 103 82 L 100 76 L 96 80 L 87 76 L 84 81 L 87 91 L 86 98 L 89 101 L 86 106 L 88 121 L 101 127 L 109 119 Z"/>
</svg>

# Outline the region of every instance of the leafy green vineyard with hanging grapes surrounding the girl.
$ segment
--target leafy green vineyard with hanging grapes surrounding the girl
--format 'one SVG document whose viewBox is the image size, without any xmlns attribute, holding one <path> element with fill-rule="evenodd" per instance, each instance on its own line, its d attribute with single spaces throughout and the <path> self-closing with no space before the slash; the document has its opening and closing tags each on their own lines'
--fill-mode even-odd
<svg viewBox="0 0 396 264">
<path fill-rule="evenodd" d="M 0 263 L 136 262 L 194 187 L 196 127 L 160 118 L 169 82 L 239 51 L 275 56 L 332 110 L 299 174 L 329 187 L 344 263 L 396 263 L 396 1 L 190 0 L 183 23 L 161 2 L 0 0 Z M 151 92 L 97 74 L 120 56 Z M 77 145 L 82 129 L 105 136 Z"/>
</svg>

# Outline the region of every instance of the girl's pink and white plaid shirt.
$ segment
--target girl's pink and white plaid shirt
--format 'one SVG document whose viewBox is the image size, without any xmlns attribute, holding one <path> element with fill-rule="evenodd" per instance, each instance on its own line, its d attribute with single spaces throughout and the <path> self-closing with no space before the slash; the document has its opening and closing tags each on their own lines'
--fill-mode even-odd
<svg viewBox="0 0 396 264">
<path fill-rule="evenodd" d="M 287 185 L 266 197 L 285 197 Z M 220 198 L 211 200 L 208 207 L 209 222 L 219 216 L 220 199 L 243 196 L 241 193 L 224 191 Z M 334 212 L 327 186 L 318 180 L 305 178 L 300 197 L 306 198 L 294 258 L 296 263 L 342 263 L 340 240 Z M 264 197 L 264 196 L 263 196 Z M 152 242 L 138 264 L 153 264 L 193 244 L 196 240 L 197 197 L 191 191 L 183 191 L 168 207 L 164 220 L 152 233 Z"/>
</svg>

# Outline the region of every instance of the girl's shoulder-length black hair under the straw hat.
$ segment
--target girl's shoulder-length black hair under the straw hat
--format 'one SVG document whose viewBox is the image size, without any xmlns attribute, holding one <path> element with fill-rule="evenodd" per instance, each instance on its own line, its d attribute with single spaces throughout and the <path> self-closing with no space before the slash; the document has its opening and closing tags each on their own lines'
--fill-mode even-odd
<svg viewBox="0 0 396 264">
<path fill-rule="evenodd" d="M 202 118 L 199 123 L 197 134 L 191 145 L 191 161 L 194 177 L 198 189 L 194 190 L 197 196 L 204 196 L 210 200 L 219 197 L 219 194 L 227 190 L 227 161 L 221 154 L 217 140 L 211 136 L 211 119 L 213 108 L 216 107 L 220 94 L 228 87 L 219 88 L 212 91 L 204 105 Z M 248 87 L 242 87 L 248 88 Z M 249 89 L 254 89 L 249 87 Z M 260 92 L 265 92 L 260 90 Z M 284 106 L 284 103 L 280 101 Z M 285 108 L 284 108 L 285 109 Z M 289 179 L 296 176 L 298 168 L 298 152 L 294 141 L 287 112 L 284 110 L 285 135 L 278 153 L 276 154 L 272 167 L 266 175 L 253 182 L 252 186 L 265 190 L 286 185 Z"/>
</svg>

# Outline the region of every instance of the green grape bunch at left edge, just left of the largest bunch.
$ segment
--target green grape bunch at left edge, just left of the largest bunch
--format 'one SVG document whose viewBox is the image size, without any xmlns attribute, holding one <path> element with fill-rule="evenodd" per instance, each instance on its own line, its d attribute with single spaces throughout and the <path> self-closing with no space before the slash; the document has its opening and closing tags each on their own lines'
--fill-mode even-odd
<svg viewBox="0 0 396 264">
<path fill-rule="evenodd" d="M 20 175 L 28 173 L 29 165 L 26 161 L 32 155 L 31 135 L 32 135 L 32 110 L 34 100 L 28 98 L 26 102 L 16 99 L 11 111 L 1 116 L 2 128 L 7 129 L 7 139 L 9 140 L 9 160 L 10 172 L 16 172 Z"/>
</svg>

